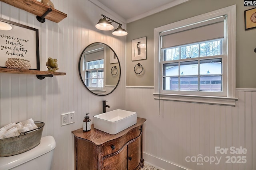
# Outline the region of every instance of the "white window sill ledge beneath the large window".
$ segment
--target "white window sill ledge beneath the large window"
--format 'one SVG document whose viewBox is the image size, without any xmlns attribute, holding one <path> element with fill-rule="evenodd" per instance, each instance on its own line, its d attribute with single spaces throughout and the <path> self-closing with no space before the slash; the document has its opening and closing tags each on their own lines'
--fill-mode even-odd
<svg viewBox="0 0 256 170">
<path fill-rule="evenodd" d="M 169 100 L 176 102 L 190 102 L 200 104 L 214 104 L 224 106 L 236 106 L 237 98 L 215 97 L 215 96 L 192 96 L 178 94 L 157 94 L 154 93 L 155 100 Z"/>
</svg>

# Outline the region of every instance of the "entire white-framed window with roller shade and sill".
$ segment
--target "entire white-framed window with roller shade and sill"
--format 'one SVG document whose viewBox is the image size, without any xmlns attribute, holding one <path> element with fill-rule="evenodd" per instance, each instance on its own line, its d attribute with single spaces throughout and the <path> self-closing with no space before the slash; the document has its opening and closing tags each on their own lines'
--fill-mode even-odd
<svg viewBox="0 0 256 170">
<path fill-rule="evenodd" d="M 235 105 L 236 6 L 155 31 L 155 99 Z"/>
</svg>

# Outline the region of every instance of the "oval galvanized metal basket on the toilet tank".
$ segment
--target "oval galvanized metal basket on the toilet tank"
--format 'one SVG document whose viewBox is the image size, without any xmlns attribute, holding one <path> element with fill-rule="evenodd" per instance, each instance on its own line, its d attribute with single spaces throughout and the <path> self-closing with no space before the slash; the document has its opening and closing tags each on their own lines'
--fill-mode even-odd
<svg viewBox="0 0 256 170">
<path fill-rule="evenodd" d="M 20 136 L 0 139 L 0 157 L 26 152 L 39 145 L 44 129 L 44 122 L 35 121 L 37 129 L 22 132 Z"/>
</svg>

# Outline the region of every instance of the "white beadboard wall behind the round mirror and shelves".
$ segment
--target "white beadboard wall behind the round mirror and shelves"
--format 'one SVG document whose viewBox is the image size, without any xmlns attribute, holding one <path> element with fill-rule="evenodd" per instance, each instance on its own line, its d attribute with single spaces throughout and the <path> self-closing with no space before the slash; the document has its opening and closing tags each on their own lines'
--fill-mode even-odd
<svg viewBox="0 0 256 170">
<path fill-rule="evenodd" d="M 74 136 L 71 131 L 82 128 L 85 113 L 90 113 L 93 122 L 93 116 L 102 113 L 102 100 L 108 100 L 111 110 L 124 108 L 125 93 L 123 72 L 118 87 L 110 95 L 90 93 L 78 74 L 80 54 L 90 43 L 106 43 L 117 53 L 124 70 L 126 37 L 114 37 L 111 31 L 97 31 L 95 24 L 101 14 L 119 20 L 88 0 L 52 2 L 56 9 L 68 15 L 59 23 L 49 20 L 40 23 L 35 15 L 0 2 L 0 18 L 39 30 L 41 70 L 47 70 L 46 61 L 52 57 L 58 59 L 60 69 L 57 71 L 66 72 L 65 76 L 44 80 L 37 79 L 36 75 L 0 73 L 0 127 L 29 118 L 43 121 L 42 135 L 52 135 L 56 140 L 52 170 L 73 170 Z M 126 29 L 126 24 L 122 27 Z M 61 113 L 70 111 L 75 111 L 75 123 L 61 126 Z"/>
</svg>

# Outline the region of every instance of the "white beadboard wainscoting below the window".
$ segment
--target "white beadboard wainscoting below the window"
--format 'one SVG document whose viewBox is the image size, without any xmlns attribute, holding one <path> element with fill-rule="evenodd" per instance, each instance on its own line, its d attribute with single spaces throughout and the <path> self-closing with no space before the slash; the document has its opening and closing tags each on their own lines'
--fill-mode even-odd
<svg viewBox="0 0 256 170">
<path fill-rule="evenodd" d="M 147 119 L 145 161 L 165 170 L 256 169 L 256 89 L 237 89 L 235 107 L 159 101 L 153 93 L 150 87 L 126 87 L 126 109 Z M 215 147 L 227 153 L 215 154 Z M 230 147 L 247 152 L 232 154 Z M 246 156 L 246 163 L 232 163 L 239 156 Z"/>
</svg>

